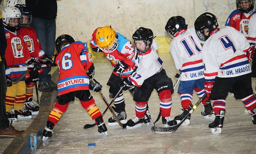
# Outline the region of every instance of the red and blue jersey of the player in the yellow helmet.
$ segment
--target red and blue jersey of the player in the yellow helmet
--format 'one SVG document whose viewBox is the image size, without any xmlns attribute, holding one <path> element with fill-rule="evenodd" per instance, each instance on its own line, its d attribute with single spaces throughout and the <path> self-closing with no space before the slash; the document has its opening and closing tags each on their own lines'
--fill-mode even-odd
<svg viewBox="0 0 256 154">
<path fill-rule="evenodd" d="M 96 41 L 96 31 L 98 28 L 96 28 L 91 36 L 90 43 L 92 48 L 98 48 L 97 41 Z M 126 39 L 123 35 L 120 33 L 116 33 L 118 36 L 118 46 L 115 51 L 111 53 L 105 53 L 103 54 L 108 58 L 109 62 L 111 63 L 113 69 L 115 68 L 116 64 L 119 61 L 124 61 L 127 65 L 130 67 L 125 69 L 123 73 L 120 73 L 121 77 L 129 77 L 132 71 L 135 69 L 135 62 L 133 60 L 133 57 L 135 55 L 135 51 L 132 48 L 132 43 L 130 40 Z M 118 76 L 116 72 L 113 71 L 115 75 Z"/>
</svg>

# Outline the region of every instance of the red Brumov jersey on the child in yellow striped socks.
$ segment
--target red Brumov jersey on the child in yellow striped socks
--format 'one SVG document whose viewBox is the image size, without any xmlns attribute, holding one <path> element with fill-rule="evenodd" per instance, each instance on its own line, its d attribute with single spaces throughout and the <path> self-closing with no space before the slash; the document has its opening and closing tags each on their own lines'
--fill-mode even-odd
<svg viewBox="0 0 256 154">
<path fill-rule="evenodd" d="M 7 65 L 26 65 L 30 61 L 30 54 L 28 48 L 22 37 L 17 34 L 5 29 L 5 37 L 7 41 L 7 47 L 5 49 L 5 60 Z M 28 70 L 27 68 L 6 68 L 5 74 L 15 81 L 20 75 Z M 27 76 L 23 77 L 20 81 L 25 81 Z"/>
</svg>

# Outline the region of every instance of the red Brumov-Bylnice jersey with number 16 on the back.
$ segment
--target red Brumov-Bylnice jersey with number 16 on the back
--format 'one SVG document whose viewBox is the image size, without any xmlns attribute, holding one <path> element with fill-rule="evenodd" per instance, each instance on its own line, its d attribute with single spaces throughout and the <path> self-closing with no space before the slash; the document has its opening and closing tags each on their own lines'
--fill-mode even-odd
<svg viewBox="0 0 256 154">
<path fill-rule="evenodd" d="M 56 57 L 59 67 L 58 95 L 77 90 L 89 90 L 86 71 L 92 66 L 92 55 L 81 41 L 68 44 Z"/>
</svg>

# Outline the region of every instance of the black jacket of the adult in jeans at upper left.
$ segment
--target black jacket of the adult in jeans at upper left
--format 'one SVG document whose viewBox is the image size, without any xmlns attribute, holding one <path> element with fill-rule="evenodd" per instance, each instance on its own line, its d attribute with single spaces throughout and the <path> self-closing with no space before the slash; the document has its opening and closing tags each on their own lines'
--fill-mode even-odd
<svg viewBox="0 0 256 154">
<path fill-rule="evenodd" d="M 32 11 L 32 18 L 50 20 L 57 16 L 56 0 L 26 0 L 26 6 Z"/>
</svg>

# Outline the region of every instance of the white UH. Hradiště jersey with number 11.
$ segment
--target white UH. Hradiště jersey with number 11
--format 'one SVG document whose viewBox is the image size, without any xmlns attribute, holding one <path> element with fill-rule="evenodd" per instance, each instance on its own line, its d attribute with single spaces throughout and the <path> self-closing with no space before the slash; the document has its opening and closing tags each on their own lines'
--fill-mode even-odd
<svg viewBox="0 0 256 154">
<path fill-rule="evenodd" d="M 174 37 L 170 45 L 177 70 L 181 71 L 181 81 L 204 78 L 201 41 L 194 27 L 189 27 L 184 33 Z"/>
</svg>

